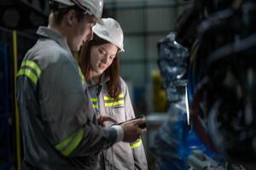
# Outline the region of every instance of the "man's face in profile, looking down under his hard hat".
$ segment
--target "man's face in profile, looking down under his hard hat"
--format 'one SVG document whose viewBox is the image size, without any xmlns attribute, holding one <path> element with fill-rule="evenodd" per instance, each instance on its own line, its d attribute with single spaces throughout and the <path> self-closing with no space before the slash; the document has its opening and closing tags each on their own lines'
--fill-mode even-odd
<svg viewBox="0 0 256 170">
<path fill-rule="evenodd" d="M 95 24 L 96 18 L 89 14 L 84 14 L 84 17 L 81 20 L 76 20 L 71 27 L 71 31 L 68 32 L 69 38 L 67 40 L 69 47 L 74 52 L 79 51 L 83 45 L 83 42 L 92 40 L 92 27 L 95 26 Z"/>
</svg>

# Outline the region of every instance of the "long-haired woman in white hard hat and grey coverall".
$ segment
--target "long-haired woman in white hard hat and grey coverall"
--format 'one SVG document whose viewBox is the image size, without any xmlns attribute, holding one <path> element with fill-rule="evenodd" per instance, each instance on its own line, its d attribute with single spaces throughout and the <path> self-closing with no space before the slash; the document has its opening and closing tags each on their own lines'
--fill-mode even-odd
<svg viewBox="0 0 256 170">
<path fill-rule="evenodd" d="M 93 27 L 94 38 L 82 49 L 79 65 L 84 74 L 97 116 L 110 116 L 117 122 L 134 118 L 128 88 L 119 73 L 119 52 L 123 31 L 116 20 L 102 19 L 104 26 Z M 104 126 L 111 126 L 106 122 Z M 100 155 L 101 169 L 148 169 L 142 140 L 119 142 Z"/>
</svg>

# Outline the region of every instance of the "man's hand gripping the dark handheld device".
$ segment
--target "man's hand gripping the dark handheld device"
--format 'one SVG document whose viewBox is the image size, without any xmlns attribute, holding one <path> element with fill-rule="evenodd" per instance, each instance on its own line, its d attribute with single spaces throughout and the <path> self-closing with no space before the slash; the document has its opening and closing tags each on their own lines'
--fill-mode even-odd
<svg viewBox="0 0 256 170">
<path fill-rule="evenodd" d="M 135 120 L 131 120 L 129 122 L 124 122 L 120 126 L 123 127 L 124 130 L 124 142 L 132 143 L 136 141 L 143 133 L 147 131 L 146 128 L 140 128 L 138 126 L 145 123 L 145 118 L 139 118 Z"/>
</svg>

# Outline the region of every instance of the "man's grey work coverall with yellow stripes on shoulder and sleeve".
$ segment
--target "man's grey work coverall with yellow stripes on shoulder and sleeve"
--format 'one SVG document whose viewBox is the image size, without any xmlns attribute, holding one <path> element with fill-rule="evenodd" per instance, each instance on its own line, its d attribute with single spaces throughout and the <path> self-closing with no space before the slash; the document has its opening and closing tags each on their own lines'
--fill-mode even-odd
<svg viewBox="0 0 256 170">
<path fill-rule="evenodd" d="M 97 126 L 67 43 L 43 26 L 37 34 L 17 75 L 23 169 L 95 169 L 98 153 L 115 143 L 117 131 Z"/>
</svg>

